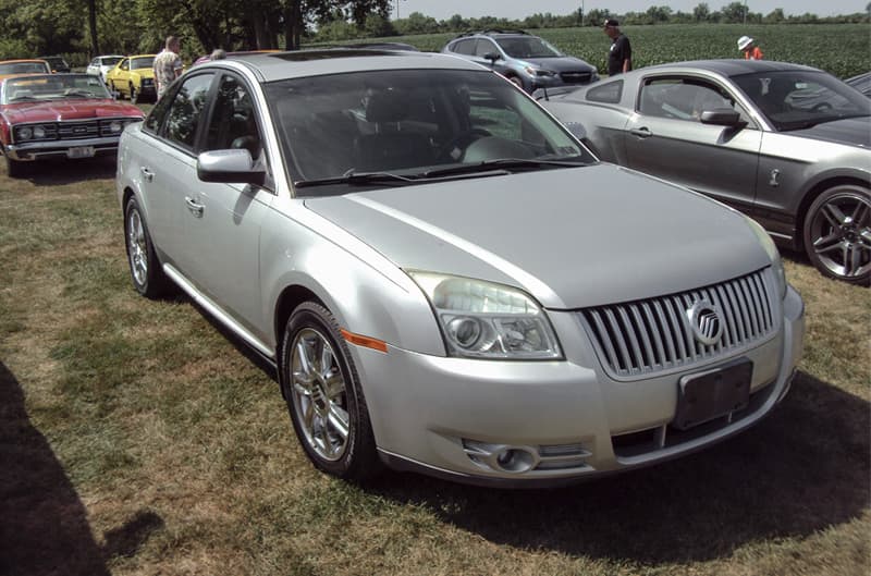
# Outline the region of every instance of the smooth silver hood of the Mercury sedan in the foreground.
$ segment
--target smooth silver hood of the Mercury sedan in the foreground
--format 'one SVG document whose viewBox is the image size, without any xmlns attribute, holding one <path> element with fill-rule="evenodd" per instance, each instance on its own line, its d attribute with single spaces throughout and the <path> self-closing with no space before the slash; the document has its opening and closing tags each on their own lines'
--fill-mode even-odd
<svg viewBox="0 0 871 576">
<path fill-rule="evenodd" d="M 403 269 L 518 286 L 552 309 L 671 294 L 770 264 L 745 217 L 613 164 L 305 205 Z"/>
</svg>

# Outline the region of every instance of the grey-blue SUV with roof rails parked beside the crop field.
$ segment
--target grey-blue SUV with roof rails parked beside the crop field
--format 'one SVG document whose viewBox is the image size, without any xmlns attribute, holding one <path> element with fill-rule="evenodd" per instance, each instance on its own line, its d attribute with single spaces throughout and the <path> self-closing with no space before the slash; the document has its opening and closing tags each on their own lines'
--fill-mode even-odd
<svg viewBox="0 0 871 576">
<path fill-rule="evenodd" d="M 478 62 L 527 93 L 538 88 L 577 86 L 599 79 L 596 68 L 565 56 L 547 40 L 523 30 L 483 30 L 457 36 L 442 52 Z"/>
</svg>

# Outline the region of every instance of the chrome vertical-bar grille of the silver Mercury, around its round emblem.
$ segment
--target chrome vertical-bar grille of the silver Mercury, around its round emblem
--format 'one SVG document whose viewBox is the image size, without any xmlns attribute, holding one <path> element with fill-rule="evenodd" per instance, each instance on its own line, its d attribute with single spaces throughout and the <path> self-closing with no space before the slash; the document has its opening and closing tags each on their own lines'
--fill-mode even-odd
<svg viewBox="0 0 871 576">
<path fill-rule="evenodd" d="M 745 347 L 776 329 L 766 270 L 713 286 L 578 314 L 612 375 L 630 377 L 679 368 Z M 711 345 L 694 336 L 687 315 L 702 299 L 722 314 L 723 334 Z"/>
</svg>

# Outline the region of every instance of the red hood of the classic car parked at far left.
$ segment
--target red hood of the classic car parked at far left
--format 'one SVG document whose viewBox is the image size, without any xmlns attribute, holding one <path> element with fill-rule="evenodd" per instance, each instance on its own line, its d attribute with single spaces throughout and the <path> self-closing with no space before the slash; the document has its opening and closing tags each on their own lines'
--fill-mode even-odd
<svg viewBox="0 0 871 576">
<path fill-rule="evenodd" d="M 63 122 L 100 118 L 142 118 L 135 106 L 116 102 L 110 98 L 22 102 L 3 107 L 3 114 L 12 124 L 21 122 Z"/>
</svg>

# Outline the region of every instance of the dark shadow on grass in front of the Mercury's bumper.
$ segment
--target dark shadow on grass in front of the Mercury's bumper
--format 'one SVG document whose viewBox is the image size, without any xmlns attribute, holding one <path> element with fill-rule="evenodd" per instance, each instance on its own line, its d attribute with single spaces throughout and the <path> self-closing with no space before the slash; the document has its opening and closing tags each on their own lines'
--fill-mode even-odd
<svg viewBox="0 0 871 576">
<path fill-rule="evenodd" d="M 388 474 L 368 490 L 523 549 L 649 564 L 728 556 L 809 536 L 869 503 L 869 404 L 799 373 L 762 422 L 657 467 L 552 491 L 503 491 Z"/>
</svg>

